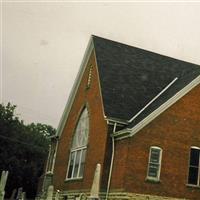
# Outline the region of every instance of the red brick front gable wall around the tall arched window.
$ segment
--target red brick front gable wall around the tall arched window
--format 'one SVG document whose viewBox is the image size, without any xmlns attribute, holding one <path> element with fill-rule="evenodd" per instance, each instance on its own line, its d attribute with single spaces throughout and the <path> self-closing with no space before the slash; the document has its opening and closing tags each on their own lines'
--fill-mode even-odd
<svg viewBox="0 0 200 200">
<path fill-rule="evenodd" d="M 90 89 L 86 89 L 90 65 L 93 65 Z M 84 105 L 88 105 L 90 127 L 89 144 L 86 154 L 84 178 L 82 180 L 65 181 L 70 153 L 70 144 L 79 114 Z M 98 72 L 94 52 L 92 52 L 81 80 L 78 92 L 73 102 L 68 120 L 60 138 L 53 183 L 55 189 L 73 190 L 90 189 L 93 181 L 96 164 L 104 167 L 104 155 L 107 141 L 107 123 L 104 120 L 102 99 L 100 96 Z M 87 178 L 86 178 L 87 177 Z"/>
</svg>

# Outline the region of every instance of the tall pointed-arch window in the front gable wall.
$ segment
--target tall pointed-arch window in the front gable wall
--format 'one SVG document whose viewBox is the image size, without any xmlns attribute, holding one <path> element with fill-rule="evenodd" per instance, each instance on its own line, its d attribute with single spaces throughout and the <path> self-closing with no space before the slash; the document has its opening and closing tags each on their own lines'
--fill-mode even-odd
<svg viewBox="0 0 200 200">
<path fill-rule="evenodd" d="M 68 162 L 67 179 L 83 177 L 89 134 L 88 110 L 84 108 L 77 123 Z"/>
</svg>

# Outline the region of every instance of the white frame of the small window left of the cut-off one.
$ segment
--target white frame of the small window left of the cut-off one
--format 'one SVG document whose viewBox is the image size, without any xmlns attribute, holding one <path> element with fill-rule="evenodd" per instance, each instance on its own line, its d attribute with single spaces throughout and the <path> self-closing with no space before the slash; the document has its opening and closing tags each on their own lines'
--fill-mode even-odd
<svg viewBox="0 0 200 200">
<path fill-rule="evenodd" d="M 151 161 L 151 152 L 152 149 L 156 149 L 160 151 L 159 154 L 159 162 L 158 163 L 153 163 L 150 162 Z M 157 177 L 153 177 L 153 176 L 149 176 L 149 169 L 150 169 L 150 164 L 158 164 L 158 173 L 157 173 Z M 148 169 L 147 169 L 147 180 L 151 180 L 151 181 L 160 181 L 160 173 L 161 173 L 161 163 L 162 163 L 162 148 L 158 147 L 158 146 L 151 146 L 150 150 L 149 150 L 149 160 L 148 160 Z"/>
</svg>

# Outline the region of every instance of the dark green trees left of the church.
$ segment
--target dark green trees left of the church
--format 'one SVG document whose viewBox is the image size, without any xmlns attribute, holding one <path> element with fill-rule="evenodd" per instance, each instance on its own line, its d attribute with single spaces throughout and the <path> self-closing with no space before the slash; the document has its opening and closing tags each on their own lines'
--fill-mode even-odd
<svg viewBox="0 0 200 200">
<path fill-rule="evenodd" d="M 8 170 L 6 197 L 23 187 L 28 198 L 34 198 L 38 177 L 47 158 L 48 136 L 55 129 L 46 124 L 25 125 L 15 116 L 15 105 L 0 104 L 0 172 Z"/>
</svg>

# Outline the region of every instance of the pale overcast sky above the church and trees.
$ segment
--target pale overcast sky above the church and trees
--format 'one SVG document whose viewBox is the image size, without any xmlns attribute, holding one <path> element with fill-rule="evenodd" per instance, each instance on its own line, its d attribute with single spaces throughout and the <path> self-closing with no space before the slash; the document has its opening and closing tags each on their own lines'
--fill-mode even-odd
<svg viewBox="0 0 200 200">
<path fill-rule="evenodd" d="M 200 64 L 200 1 L 1 1 L 0 101 L 57 127 L 92 34 Z"/>
</svg>

